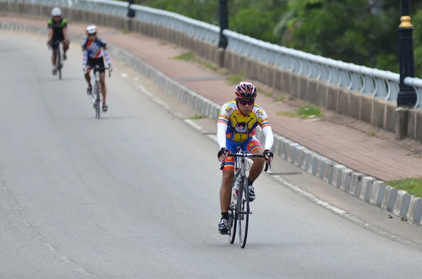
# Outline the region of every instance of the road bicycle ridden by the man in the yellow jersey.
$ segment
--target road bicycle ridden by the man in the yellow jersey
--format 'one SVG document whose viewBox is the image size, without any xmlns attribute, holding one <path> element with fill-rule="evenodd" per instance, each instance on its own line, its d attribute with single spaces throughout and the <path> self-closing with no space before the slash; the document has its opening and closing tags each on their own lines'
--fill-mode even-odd
<svg viewBox="0 0 422 279">
<path fill-rule="evenodd" d="M 248 190 L 248 176 L 246 176 L 246 158 L 248 157 L 260 157 L 265 158 L 264 155 L 255 155 L 246 153 L 241 150 L 241 147 L 236 147 L 236 154 L 229 153 L 227 156 L 235 157 L 233 184 L 231 184 L 231 196 L 229 205 L 229 243 L 233 244 L 236 238 L 236 224 L 238 223 L 239 233 L 239 245 L 244 248 L 246 245 L 246 238 L 248 238 L 248 226 L 249 226 L 249 190 Z M 222 162 L 220 169 L 224 168 L 225 162 Z M 271 169 L 271 163 L 266 160 L 264 171 Z M 237 222 L 237 223 L 236 223 Z"/>
</svg>

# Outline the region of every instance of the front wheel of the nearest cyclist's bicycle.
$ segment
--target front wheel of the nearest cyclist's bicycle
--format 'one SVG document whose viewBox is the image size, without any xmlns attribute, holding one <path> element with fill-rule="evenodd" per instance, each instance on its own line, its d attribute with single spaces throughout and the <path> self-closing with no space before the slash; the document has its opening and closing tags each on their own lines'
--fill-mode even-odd
<svg viewBox="0 0 422 279">
<path fill-rule="evenodd" d="M 248 238 L 248 226 L 249 226 L 249 190 L 248 190 L 248 179 L 243 180 L 242 186 L 238 193 L 238 226 L 239 226 L 239 245 L 241 248 L 245 248 L 246 239 Z"/>
</svg>

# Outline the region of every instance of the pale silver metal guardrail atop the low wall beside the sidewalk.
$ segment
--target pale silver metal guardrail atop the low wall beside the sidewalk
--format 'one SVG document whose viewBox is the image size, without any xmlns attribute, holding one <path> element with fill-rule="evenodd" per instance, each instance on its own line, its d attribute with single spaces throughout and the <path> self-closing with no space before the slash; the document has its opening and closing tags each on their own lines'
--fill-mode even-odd
<svg viewBox="0 0 422 279">
<path fill-rule="evenodd" d="M 0 0 L 12 1 L 16 0 Z M 127 2 L 113 0 L 17 0 L 37 4 L 56 6 L 72 6 L 72 8 L 101 11 L 115 15 L 127 15 Z M 132 5 L 136 11 L 136 20 L 150 22 L 155 25 L 170 27 L 184 32 L 190 37 L 203 39 L 211 44 L 219 41 L 219 27 L 199 20 L 193 20 L 184 15 L 162 11 L 146 6 Z M 274 65 L 288 72 L 295 72 L 309 79 L 326 82 L 350 91 L 359 91 L 373 98 L 383 98 L 387 101 L 397 100 L 399 93 L 399 74 L 389 71 L 372 69 L 340 60 L 324 58 L 292 48 L 270 44 L 265 41 L 224 30 L 223 34 L 229 40 L 227 50 L 248 56 L 261 63 Z M 407 77 L 404 83 L 414 86 L 418 94 L 416 108 L 422 108 L 422 79 Z"/>
</svg>

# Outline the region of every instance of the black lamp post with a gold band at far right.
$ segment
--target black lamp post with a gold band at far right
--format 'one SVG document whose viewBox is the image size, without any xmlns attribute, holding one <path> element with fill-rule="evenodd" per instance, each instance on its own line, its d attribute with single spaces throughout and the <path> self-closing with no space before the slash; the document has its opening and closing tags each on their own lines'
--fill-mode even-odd
<svg viewBox="0 0 422 279">
<path fill-rule="evenodd" d="M 402 17 L 399 25 L 399 53 L 400 53 L 400 91 L 397 96 L 397 107 L 414 108 L 417 101 L 413 86 L 404 84 L 404 78 L 415 77 L 413 25 L 409 16 L 410 0 L 402 0 Z"/>
</svg>

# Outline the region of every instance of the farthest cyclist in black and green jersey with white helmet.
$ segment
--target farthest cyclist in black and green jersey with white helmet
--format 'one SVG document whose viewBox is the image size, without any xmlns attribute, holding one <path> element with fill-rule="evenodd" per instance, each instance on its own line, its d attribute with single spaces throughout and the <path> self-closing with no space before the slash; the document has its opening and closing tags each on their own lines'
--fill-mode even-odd
<svg viewBox="0 0 422 279">
<path fill-rule="evenodd" d="M 55 7 L 51 10 L 52 18 L 47 21 L 49 28 L 49 41 L 47 44 L 53 49 L 51 56 L 51 63 L 53 64 L 53 74 L 56 74 L 56 48 L 59 43 L 55 41 L 63 42 L 63 60 L 66 60 L 66 51 L 69 49 L 68 40 L 68 21 L 62 17 L 62 11 L 60 8 Z"/>
</svg>

